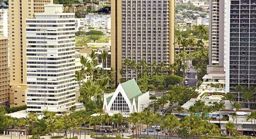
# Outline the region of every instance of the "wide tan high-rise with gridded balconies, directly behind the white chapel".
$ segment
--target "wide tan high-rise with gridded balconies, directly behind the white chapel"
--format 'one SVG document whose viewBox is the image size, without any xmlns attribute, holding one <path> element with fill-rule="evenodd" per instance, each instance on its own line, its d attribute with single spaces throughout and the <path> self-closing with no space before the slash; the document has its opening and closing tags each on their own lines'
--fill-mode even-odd
<svg viewBox="0 0 256 139">
<path fill-rule="evenodd" d="M 123 64 L 127 58 L 148 66 L 156 61 L 168 66 L 174 61 L 174 0 L 112 0 L 111 62 L 116 84 L 123 68 L 126 80 L 137 78 L 137 71 Z M 150 67 L 152 72 L 152 67 Z"/>
</svg>

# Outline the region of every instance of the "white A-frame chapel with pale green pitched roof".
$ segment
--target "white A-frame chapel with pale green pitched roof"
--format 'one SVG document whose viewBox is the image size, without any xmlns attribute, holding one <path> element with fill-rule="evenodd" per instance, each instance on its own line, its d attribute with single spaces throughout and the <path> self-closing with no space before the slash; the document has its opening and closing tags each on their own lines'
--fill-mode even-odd
<svg viewBox="0 0 256 139">
<path fill-rule="evenodd" d="M 116 91 L 104 96 L 105 112 L 142 112 L 149 105 L 149 92 L 142 93 L 135 79 L 119 84 Z"/>
</svg>

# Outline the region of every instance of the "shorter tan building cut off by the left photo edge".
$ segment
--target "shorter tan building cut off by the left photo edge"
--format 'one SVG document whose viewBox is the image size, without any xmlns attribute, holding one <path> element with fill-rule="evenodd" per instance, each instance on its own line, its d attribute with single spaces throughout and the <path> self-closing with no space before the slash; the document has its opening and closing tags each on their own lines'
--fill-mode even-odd
<svg viewBox="0 0 256 139">
<path fill-rule="evenodd" d="M 9 101 L 8 38 L 0 37 L 0 105 Z"/>
</svg>

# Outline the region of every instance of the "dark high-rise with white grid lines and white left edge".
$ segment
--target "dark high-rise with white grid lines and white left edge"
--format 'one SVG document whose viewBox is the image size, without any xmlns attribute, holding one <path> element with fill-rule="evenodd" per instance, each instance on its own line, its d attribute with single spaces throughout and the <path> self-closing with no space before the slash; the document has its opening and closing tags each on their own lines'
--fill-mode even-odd
<svg viewBox="0 0 256 139">
<path fill-rule="evenodd" d="M 226 92 L 256 86 L 256 0 L 226 2 Z"/>
</svg>

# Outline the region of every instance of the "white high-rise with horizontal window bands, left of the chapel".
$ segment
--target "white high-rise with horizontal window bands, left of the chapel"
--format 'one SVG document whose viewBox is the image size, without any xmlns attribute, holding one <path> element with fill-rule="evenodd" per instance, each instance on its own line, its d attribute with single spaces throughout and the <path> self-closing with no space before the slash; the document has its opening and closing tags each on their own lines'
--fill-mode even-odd
<svg viewBox="0 0 256 139">
<path fill-rule="evenodd" d="M 75 14 L 44 9 L 26 20 L 27 111 L 63 113 L 75 104 Z"/>
</svg>

